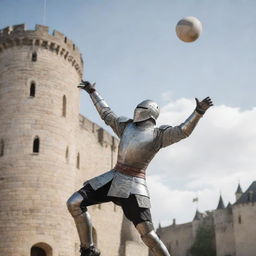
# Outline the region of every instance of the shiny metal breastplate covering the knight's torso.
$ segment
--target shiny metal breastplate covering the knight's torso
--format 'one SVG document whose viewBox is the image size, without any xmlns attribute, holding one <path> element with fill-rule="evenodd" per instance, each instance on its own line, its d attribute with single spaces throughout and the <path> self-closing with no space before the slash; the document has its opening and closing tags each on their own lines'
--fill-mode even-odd
<svg viewBox="0 0 256 256">
<path fill-rule="evenodd" d="M 141 128 L 130 123 L 121 137 L 117 162 L 145 170 L 156 154 L 153 145 L 153 127 Z"/>
</svg>

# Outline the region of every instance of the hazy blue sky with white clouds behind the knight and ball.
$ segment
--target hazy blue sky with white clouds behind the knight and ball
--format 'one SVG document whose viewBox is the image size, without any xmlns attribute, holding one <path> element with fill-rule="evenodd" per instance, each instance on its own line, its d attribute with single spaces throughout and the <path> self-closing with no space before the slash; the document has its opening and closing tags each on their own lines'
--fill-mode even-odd
<svg viewBox="0 0 256 256">
<path fill-rule="evenodd" d="M 208 210 L 217 205 L 219 190 L 232 200 L 238 179 L 246 188 L 255 178 L 252 159 L 241 159 L 236 172 L 231 168 L 239 149 L 249 156 L 255 152 L 253 144 L 246 143 L 246 139 L 254 142 L 254 132 L 243 129 L 248 123 L 254 126 L 250 121 L 255 117 L 255 10 L 253 0 L 47 0 L 45 25 L 61 31 L 78 45 L 85 62 L 84 78 L 96 82 L 118 115 L 131 116 L 137 103 L 153 99 L 163 109 L 159 123 L 174 125 L 190 114 L 195 97 L 212 97 L 215 107 L 206 114 L 206 121 L 200 122 L 195 135 L 181 142 L 181 146 L 166 149 L 149 169 L 150 184 L 159 187 L 159 194 L 167 191 L 173 195 L 176 191 L 175 200 L 185 202 L 184 198 L 192 201 L 190 197 L 201 193 L 201 210 Z M 1 28 L 20 23 L 33 28 L 44 22 L 44 0 L 0 0 L 0 14 Z M 186 16 L 197 17 L 203 25 L 203 33 L 194 43 L 181 42 L 175 34 L 176 23 Z M 84 92 L 81 113 L 105 127 Z M 234 119 L 229 120 L 230 116 Z M 211 154 L 196 162 L 202 143 L 204 150 L 209 150 L 209 137 L 214 138 L 208 141 L 214 144 Z M 233 145 L 236 138 L 240 139 Z M 180 153 L 173 155 L 175 150 Z M 181 161 L 184 152 L 194 166 Z M 207 169 L 207 162 L 210 166 L 218 162 L 215 168 L 221 173 Z M 167 174 L 165 170 L 173 163 L 179 164 L 173 167 L 175 172 Z M 216 177 L 212 183 L 205 183 L 212 172 Z M 229 179 L 223 179 L 223 175 Z M 201 179 L 209 188 L 196 182 Z M 159 198 L 152 196 L 152 201 L 153 206 L 157 205 Z M 155 221 L 168 223 L 177 215 L 178 222 L 191 220 L 192 206 L 178 202 L 175 207 L 180 207 L 179 211 L 171 207 L 164 214 L 154 210 Z"/>
</svg>

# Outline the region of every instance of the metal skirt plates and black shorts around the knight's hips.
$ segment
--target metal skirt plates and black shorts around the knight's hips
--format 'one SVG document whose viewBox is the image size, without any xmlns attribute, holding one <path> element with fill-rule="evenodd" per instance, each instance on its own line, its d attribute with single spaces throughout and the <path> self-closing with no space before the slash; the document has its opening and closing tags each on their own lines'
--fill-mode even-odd
<svg viewBox="0 0 256 256">
<path fill-rule="evenodd" d="M 78 191 L 84 198 L 80 207 L 112 201 L 122 207 L 124 215 L 136 226 L 152 222 L 146 180 L 110 170 L 84 183 Z"/>
</svg>

